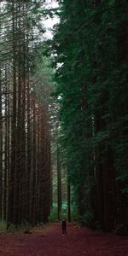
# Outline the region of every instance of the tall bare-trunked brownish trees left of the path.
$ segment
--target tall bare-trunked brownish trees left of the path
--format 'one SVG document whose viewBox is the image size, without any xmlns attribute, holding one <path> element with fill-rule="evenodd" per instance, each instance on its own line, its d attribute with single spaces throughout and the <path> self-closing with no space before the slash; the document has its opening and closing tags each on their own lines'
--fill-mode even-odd
<svg viewBox="0 0 128 256">
<path fill-rule="evenodd" d="M 36 79 L 33 61 L 43 47 L 40 5 L 0 3 L 0 218 L 8 224 L 37 224 L 49 215 L 51 81 L 48 73 L 42 83 Z M 39 61 L 46 69 L 43 58 Z"/>
</svg>

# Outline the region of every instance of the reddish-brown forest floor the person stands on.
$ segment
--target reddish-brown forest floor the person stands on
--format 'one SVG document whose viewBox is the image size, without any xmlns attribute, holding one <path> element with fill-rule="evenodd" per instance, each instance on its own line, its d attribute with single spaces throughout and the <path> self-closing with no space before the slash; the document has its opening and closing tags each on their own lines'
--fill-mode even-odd
<svg viewBox="0 0 128 256">
<path fill-rule="evenodd" d="M 67 236 L 61 224 L 23 232 L 0 234 L 0 256 L 128 256 L 128 236 L 92 231 L 67 224 Z"/>
</svg>

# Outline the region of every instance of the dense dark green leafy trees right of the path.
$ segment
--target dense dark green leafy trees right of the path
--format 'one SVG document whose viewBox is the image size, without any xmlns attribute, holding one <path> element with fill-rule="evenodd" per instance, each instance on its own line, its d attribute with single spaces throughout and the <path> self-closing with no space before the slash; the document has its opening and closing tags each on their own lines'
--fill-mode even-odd
<svg viewBox="0 0 128 256">
<path fill-rule="evenodd" d="M 103 230 L 128 231 L 127 9 L 126 1 L 63 1 L 52 44 L 79 218 Z"/>
</svg>

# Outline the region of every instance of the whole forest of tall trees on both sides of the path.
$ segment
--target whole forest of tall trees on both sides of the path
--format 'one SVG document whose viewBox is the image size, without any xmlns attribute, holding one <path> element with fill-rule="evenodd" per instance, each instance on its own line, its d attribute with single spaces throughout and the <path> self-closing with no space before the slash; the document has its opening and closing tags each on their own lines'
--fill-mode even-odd
<svg viewBox="0 0 128 256">
<path fill-rule="evenodd" d="M 128 234 L 127 14 L 126 0 L 0 2 L 7 230 L 65 215 Z M 43 20 L 55 18 L 46 38 Z"/>
</svg>

